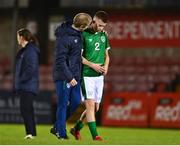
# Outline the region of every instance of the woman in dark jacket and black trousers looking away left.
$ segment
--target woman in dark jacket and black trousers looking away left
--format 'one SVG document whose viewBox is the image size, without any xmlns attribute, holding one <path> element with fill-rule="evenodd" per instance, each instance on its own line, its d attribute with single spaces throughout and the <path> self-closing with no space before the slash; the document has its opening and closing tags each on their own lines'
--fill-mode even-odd
<svg viewBox="0 0 180 146">
<path fill-rule="evenodd" d="M 39 87 L 39 48 L 35 37 L 28 29 L 17 31 L 17 41 L 21 48 L 16 56 L 15 91 L 20 97 L 20 111 L 24 120 L 25 139 L 36 136 L 33 100 Z"/>
</svg>

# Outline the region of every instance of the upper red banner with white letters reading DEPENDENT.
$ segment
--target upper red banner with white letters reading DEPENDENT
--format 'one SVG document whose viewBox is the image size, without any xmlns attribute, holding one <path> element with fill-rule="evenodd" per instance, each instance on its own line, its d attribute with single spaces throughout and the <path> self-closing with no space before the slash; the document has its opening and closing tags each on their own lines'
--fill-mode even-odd
<svg viewBox="0 0 180 146">
<path fill-rule="evenodd" d="M 107 27 L 113 48 L 180 47 L 180 15 L 110 14 Z"/>
</svg>

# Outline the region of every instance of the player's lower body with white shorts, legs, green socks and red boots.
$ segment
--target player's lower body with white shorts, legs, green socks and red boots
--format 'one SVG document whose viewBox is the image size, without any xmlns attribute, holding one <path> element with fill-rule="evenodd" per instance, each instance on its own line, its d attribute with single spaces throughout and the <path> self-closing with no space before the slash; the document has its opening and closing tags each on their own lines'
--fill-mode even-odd
<svg viewBox="0 0 180 146">
<path fill-rule="evenodd" d="M 99 103 L 101 102 L 101 98 L 102 98 L 102 91 L 103 91 L 103 85 L 104 85 L 103 77 L 97 77 L 97 78 L 95 77 L 95 81 L 97 82 L 96 86 L 93 83 L 94 81 L 92 82 L 91 80 L 89 80 L 87 78 L 85 78 L 85 81 L 83 81 L 82 94 L 83 94 L 83 97 L 85 98 L 85 102 L 87 104 L 86 110 L 81 114 L 80 119 L 77 121 L 75 126 L 73 128 L 71 128 L 71 130 L 70 130 L 71 134 L 75 137 L 76 140 L 80 139 L 80 130 L 84 126 L 84 124 L 83 124 L 84 121 L 87 120 L 86 114 L 88 115 L 88 120 L 87 120 L 87 121 L 89 121 L 88 126 L 91 131 L 93 139 L 94 140 L 102 140 L 102 138 L 100 136 L 98 136 L 98 133 L 96 130 L 95 113 L 99 110 Z M 86 89 L 86 86 L 91 87 L 91 88 Z M 94 86 L 97 89 L 93 91 Z M 88 93 L 86 93 L 86 92 L 88 92 Z M 95 93 L 95 95 L 93 95 L 95 98 L 91 97 L 92 95 L 90 95 L 90 93 L 93 93 L 93 92 Z M 90 102 L 92 102 L 93 105 L 91 105 Z M 90 109 L 90 108 L 92 108 L 92 109 Z M 86 113 L 87 109 L 89 109 L 90 113 Z M 91 117 L 93 117 L 93 118 L 91 119 Z"/>
</svg>

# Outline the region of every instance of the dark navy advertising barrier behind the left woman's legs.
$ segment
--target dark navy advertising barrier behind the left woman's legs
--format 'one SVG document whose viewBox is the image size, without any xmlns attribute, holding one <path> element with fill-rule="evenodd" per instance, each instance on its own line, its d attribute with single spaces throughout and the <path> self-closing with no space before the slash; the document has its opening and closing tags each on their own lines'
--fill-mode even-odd
<svg viewBox="0 0 180 146">
<path fill-rule="evenodd" d="M 51 91 L 40 91 L 34 99 L 36 123 L 52 123 Z M 0 90 L 0 123 L 22 123 L 20 98 L 8 90 Z"/>
</svg>

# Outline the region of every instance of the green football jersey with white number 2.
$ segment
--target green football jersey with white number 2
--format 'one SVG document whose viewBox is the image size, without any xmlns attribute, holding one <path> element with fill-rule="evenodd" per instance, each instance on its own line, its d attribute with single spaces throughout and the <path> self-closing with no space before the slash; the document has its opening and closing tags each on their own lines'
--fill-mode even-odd
<svg viewBox="0 0 180 146">
<path fill-rule="evenodd" d="M 106 50 L 110 49 L 109 41 L 104 32 L 92 33 L 83 32 L 83 57 L 93 63 L 104 65 Z M 95 70 L 87 65 L 83 65 L 83 76 L 95 77 L 100 76 Z"/>
</svg>

